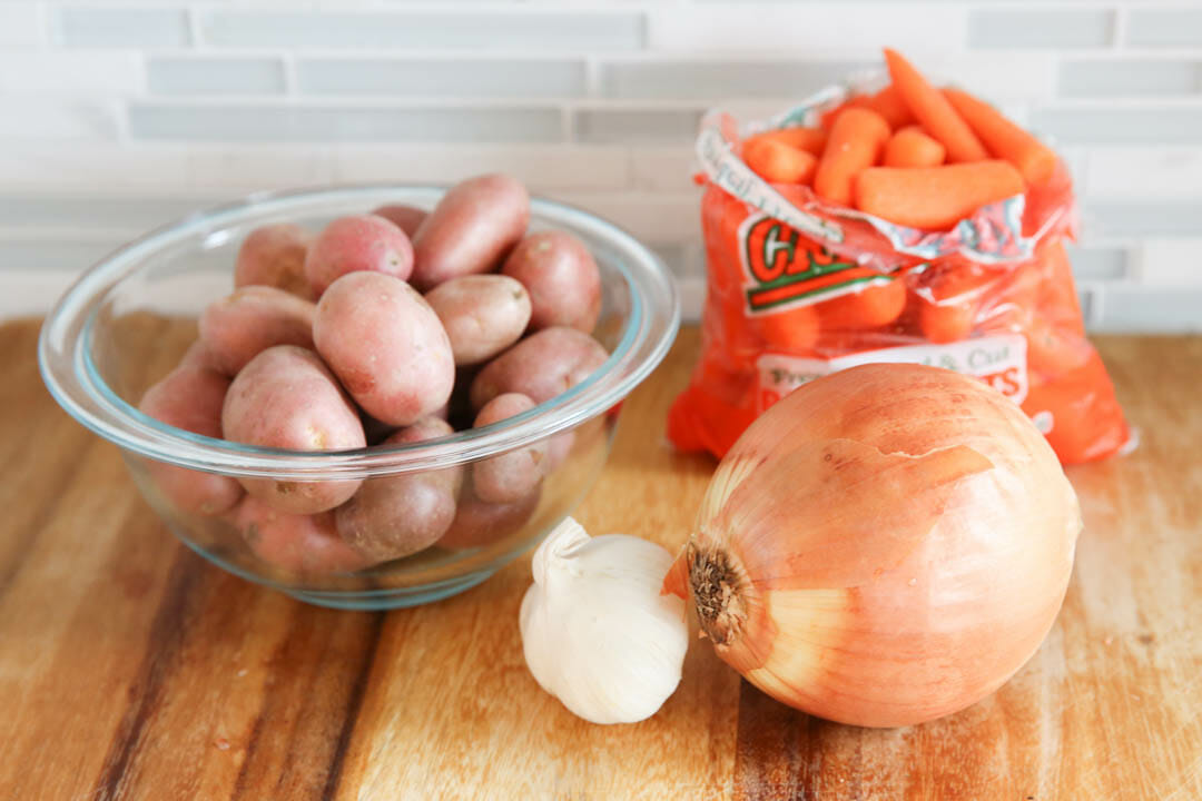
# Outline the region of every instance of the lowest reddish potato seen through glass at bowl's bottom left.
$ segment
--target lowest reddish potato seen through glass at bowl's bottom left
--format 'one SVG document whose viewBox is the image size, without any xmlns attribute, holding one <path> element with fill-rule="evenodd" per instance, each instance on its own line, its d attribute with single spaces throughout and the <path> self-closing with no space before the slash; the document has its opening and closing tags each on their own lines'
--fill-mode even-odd
<svg viewBox="0 0 1202 801">
<path fill-rule="evenodd" d="M 260 560 L 304 576 L 353 573 L 371 561 L 338 538 L 334 514 L 288 514 L 258 498 L 243 501 L 233 525 Z"/>
</svg>

